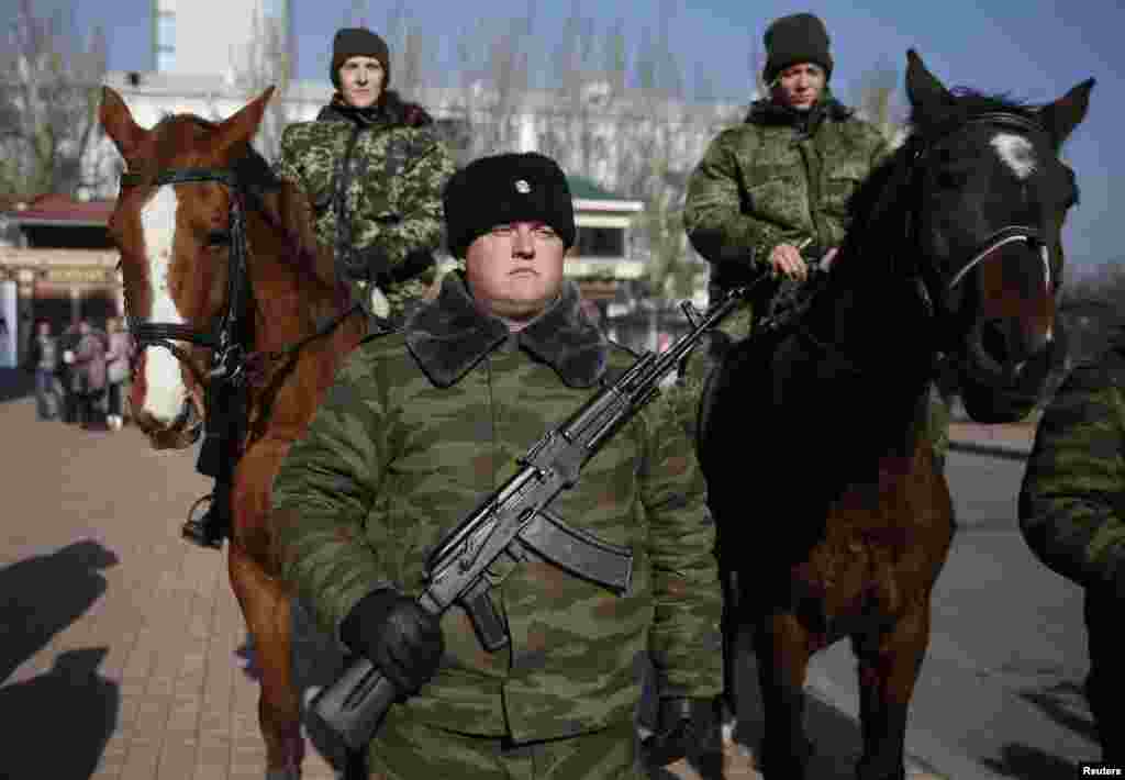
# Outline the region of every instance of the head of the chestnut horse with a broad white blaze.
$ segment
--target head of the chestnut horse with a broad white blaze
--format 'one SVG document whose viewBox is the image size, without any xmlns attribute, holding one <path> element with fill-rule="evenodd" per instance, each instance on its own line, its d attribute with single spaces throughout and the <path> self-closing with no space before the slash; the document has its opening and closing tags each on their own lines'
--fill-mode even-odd
<svg viewBox="0 0 1125 780">
<path fill-rule="evenodd" d="M 102 90 L 99 118 L 127 167 L 109 234 L 137 343 L 129 400 L 158 449 L 198 438 L 207 376 L 228 368 L 240 347 L 249 279 L 237 169 L 261 161 L 250 141 L 272 92 L 220 123 L 182 114 L 145 129 L 120 96 Z"/>
</svg>

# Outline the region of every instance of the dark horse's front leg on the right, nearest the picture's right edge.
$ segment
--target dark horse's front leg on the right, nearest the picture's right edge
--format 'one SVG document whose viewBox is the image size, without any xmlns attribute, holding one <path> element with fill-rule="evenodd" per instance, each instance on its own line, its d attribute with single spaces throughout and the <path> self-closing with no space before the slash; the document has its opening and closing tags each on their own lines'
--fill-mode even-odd
<svg viewBox="0 0 1125 780">
<path fill-rule="evenodd" d="M 906 780 L 907 715 L 929 645 L 929 593 L 886 631 L 852 637 L 863 755 L 857 780 Z"/>
</svg>

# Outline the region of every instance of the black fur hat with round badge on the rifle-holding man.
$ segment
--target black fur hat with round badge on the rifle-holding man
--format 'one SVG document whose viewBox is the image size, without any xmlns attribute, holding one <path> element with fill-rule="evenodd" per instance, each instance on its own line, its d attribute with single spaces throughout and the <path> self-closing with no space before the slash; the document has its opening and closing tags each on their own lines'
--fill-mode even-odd
<svg viewBox="0 0 1125 780">
<path fill-rule="evenodd" d="M 511 222 L 542 222 L 574 245 L 574 201 L 566 174 L 538 152 L 496 154 L 457 171 L 442 194 L 449 251 L 464 258 L 478 236 Z"/>
</svg>

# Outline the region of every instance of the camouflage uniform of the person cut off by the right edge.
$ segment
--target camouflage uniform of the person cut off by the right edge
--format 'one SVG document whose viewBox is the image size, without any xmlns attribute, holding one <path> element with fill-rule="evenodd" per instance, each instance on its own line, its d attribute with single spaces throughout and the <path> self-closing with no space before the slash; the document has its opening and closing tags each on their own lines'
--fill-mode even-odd
<svg viewBox="0 0 1125 780">
<path fill-rule="evenodd" d="M 1086 589 L 1086 694 L 1105 761 L 1125 763 L 1125 342 L 1074 368 L 1040 422 L 1019 527 L 1052 571 Z"/>
</svg>

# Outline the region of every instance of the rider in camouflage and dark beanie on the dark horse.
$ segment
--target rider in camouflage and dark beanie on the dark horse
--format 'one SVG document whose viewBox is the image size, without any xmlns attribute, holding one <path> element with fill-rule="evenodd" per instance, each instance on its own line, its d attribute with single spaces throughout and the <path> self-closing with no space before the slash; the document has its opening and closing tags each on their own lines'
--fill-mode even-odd
<svg viewBox="0 0 1125 780">
<path fill-rule="evenodd" d="M 716 137 L 687 182 L 684 227 L 710 263 L 710 302 L 768 272 L 791 293 L 809 278 L 809 265 L 827 267 L 849 224 L 848 199 L 889 154 L 879 129 L 855 116 L 831 92 L 835 64 L 828 32 L 811 14 L 776 19 L 765 33 L 763 71 L 770 95 L 750 105 L 746 120 Z M 680 388 L 684 424 L 695 428 L 703 383 L 731 339 L 748 337 L 777 303 L 781 285 L 766 285 L 687 359 Z M 767 380 L 763 378 L 763 380 Z M 721 553 L 721 549 L 720 549 Z M 720 559 L 722 556 L 720 555 Z M 735 573 L 724 576 L 726 620 L 735 609 Z M 734 642 L 728 629 L 726 640 Z M 724 653 L 723 702 L 735 711 L 735 647 Z"/>
</svg>

